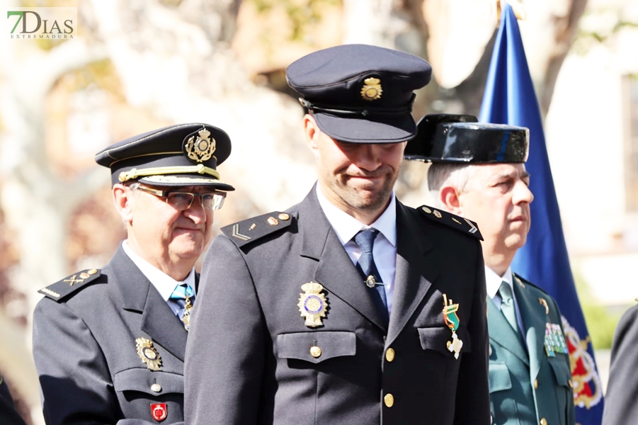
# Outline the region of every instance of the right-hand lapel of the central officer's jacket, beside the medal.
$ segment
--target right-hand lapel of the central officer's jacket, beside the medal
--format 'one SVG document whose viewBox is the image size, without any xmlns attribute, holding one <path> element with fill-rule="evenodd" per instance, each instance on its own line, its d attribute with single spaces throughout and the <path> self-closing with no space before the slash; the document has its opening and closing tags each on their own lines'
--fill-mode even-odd
<svg viewBox="0 0 638 425">
<path fill-rule="evenodd" d="M 438 261 L 432 261 L 434 245 L 424 227 L 397 200 L 397 269 L 387 344 L 404 329 L 439 273 Z"/>
</svg>

